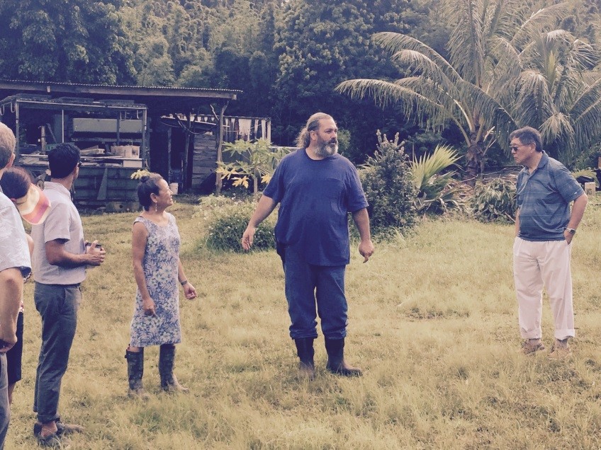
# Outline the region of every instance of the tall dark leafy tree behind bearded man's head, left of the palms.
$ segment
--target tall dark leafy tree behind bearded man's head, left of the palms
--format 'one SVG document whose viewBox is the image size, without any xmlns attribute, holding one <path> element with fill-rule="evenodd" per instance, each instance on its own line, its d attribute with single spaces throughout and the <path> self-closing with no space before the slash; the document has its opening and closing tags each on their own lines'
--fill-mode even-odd
<svg viewBox="0 0 601 450">
<path fill-rule="evenodd" d="M 375 129 L 402 129 L 403 120 L 383 113 L 372 101 L 357 101 L 334 92 L 352 76 L 390 77 L 393 63 L 371 45 L 371 33 L 403 30 L 405 11 L 413 1 L 348 0 L 324 2 L 291 0 L 283 3 L 276 27 L 275 50 L 279 72 L 275 83 L 273 139 L 293 142 L 307 118 L 316 111 L 332 114 L 340 128 L 352 134 L 352 160 L 366 160 L 376 147 Z M 421 17 L 412 18 L 416 23 Z M 419 25 L 417 25 L 419 27 Z M 383 128 L 384 127 L 384 128 Z"/>
</svg>

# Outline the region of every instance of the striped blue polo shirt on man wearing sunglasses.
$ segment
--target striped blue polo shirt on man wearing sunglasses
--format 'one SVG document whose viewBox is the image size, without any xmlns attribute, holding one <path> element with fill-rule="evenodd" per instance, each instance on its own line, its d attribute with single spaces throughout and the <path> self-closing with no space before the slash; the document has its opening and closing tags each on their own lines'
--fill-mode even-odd
<svg viewBox="0 0 601 450">
<path fill-rule="evenodd" d="M 583 193 L 570 171 L 543 152 L 534 173 L 524 167 L 517 175 L 518 236 L 525 241 L 563 241 L 570 203 Z"/>
</svg>

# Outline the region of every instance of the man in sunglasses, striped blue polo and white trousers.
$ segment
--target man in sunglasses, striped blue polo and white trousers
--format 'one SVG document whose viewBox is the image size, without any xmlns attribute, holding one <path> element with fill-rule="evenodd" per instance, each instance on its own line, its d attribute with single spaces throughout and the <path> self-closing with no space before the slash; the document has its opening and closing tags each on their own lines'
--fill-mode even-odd
<svg viewBox="0 0 601 450">
<path fill-rule="evenodd" d="M 555 342 L 549 357 L 563 359 L 570 354 L 568 338 L 575 334 L 571 243 L 588 199 L 570 171 L 543 151 L 536 129 L 517 129 L 510 134 L 510 142 L 515 162 L 524 166 L 517 176 L 513 244 L 522 352 L 533 354 L 545 348 L 541 341 L 544 286 L 555 322 Z"/>
</svg>

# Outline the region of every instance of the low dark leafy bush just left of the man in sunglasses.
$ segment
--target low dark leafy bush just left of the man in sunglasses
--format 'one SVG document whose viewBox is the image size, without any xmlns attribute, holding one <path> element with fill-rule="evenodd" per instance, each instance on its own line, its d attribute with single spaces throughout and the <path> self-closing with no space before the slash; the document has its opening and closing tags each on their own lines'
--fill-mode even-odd
<svg viewBox="0 0 601 450">
<path fill-rule="evenodd" d="M 474 217 L 480 221 L 515 221 L 515 180 L 495 178 L 479 183 L 471 207 Z"/>
</svg>

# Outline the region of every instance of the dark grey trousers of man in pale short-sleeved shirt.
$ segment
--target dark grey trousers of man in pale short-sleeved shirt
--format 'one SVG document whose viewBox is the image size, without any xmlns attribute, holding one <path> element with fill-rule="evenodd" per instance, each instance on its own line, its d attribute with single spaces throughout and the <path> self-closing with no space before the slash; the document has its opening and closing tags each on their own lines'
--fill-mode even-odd
<svg viewBox="0 0 601 450">
<path fill-rule="evenodd" d="M 47 423 L 60 418 L 60 383 L 67 371 L 82 292 L 79 284 L 36 282 L 33 300 L 42 316 L 42 347 L 35 375 L 33 410 L 38 412 L 39 422 Z"/>
</svg>

